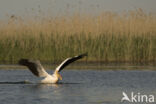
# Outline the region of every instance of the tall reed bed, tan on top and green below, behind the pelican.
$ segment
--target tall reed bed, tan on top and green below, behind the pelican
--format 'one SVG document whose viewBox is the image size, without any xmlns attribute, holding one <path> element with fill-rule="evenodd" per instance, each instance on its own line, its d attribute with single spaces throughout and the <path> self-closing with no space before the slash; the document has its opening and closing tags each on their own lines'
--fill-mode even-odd
<svg viewBox="0 0 156 104">
<path fill-rule="evenodd" d="M 88 52 L 82 61 L 156 62 L 156 15 L 141 9 L 0 21 L 0 62 L 20 58 L 59 62 Z"/>
</svg>

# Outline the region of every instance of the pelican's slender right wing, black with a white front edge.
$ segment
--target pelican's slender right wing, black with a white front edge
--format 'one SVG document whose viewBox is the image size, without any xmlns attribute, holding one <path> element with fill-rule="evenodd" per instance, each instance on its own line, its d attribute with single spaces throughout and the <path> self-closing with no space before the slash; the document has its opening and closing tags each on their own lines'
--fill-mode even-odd
<svg viewBox="0 0 156 104">
<path fill-rule="evenodd" d="M 87 56 L 87 53 L 84 53 L 84 54 L 81 54 L 81 55 L 78 55 L 78 56 L 75 56 L 75 57 L 71 57 L 71 58 L 67 58 L 66 60 L 64 60 L 57 68 L 55 71 L 58 71 L 60 72 L 64 67 L 66 67 L 67 65 L 69 65 L 70 63 L 78 60 L 78 59 L 81 59 L 83 57 Z"/>
</svg>

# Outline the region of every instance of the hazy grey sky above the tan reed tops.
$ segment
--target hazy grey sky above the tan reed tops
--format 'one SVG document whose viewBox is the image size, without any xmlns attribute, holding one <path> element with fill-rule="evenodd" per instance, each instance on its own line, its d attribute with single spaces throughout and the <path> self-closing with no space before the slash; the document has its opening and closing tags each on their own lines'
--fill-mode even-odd
<svg viewBox="0 0 156 104">
<path fill-rule="evenodd" d="M 0 0 L 0 19 L 8 15 L 98 14 L 102 11 L 122 12 L 136 8 L 156 13 L 156 0 Z"/>
</svg>

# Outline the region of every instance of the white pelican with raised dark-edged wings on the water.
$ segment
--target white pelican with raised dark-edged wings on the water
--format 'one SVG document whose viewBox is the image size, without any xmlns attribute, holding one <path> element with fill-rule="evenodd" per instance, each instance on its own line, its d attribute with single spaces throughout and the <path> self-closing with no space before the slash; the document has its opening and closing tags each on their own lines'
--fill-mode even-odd
<svg viewBox="0 0 156 104">
<path fill-rule="evenodd" d="M 70 63 L 85 56 L 87 56 L 87 53 L 65 59 L 58 67 L 56 67 L 52 75 L 46 72 L 39 60 L 20 59 L 18 63 L 28 67 L 28 69 L 37 77 L 42 77 L 43 79 L 40 80 L 39 83 L 57 83 L 59 80 L 62 80 L 62 76 L 59 72 Z"/>
</svg>

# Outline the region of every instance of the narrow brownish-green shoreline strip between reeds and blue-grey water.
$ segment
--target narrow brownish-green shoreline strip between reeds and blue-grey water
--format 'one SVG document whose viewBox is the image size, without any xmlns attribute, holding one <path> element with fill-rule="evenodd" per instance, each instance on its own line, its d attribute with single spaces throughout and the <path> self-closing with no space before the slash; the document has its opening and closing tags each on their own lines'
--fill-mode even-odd
<svg viewBox="0 0 156 104">
<path fill-rule="evenodd" d="M 42 63 L 42 62 L 41 62 Z M 55 70 L 59 65 L 45 64 L 43 67 L 47 70 Z M 67 66 L 66 70 L 155 70 L 155 64 L 132 64 L 132 63 L 99 63 L 99 62 L 76 62 Z M 0 70 L 23 70 L 27 69 L 25 66 L 17 64 L 3 64 L 0 65 Z"/>
</svg>

